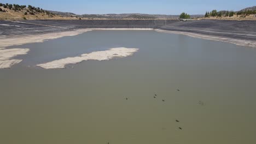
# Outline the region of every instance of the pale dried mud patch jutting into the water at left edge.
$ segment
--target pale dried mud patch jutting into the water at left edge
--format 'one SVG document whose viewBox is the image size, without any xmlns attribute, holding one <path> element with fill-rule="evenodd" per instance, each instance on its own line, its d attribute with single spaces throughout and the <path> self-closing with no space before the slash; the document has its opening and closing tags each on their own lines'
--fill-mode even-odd
<svg viewBox="0 0 256 144">
<path fill-rule="evenodd" d="M 22 59 L 10 59 L 18 55 L 25 55 L 30 49 L 0 49 L 0 69 L 10 68 L 20 63 Z"/>
</svg>

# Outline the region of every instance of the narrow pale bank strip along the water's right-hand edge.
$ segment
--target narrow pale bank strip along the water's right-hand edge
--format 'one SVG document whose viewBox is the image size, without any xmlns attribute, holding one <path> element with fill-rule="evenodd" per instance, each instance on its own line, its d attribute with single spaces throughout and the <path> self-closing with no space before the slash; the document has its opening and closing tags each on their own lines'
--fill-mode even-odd
<svg viewBox="0 0 256 144">
<path fill-rule="evenodd" d="M 232 38 L 225 38 L 225 37 L 216 37 L 214 35 L 205 35 L 205 34 L 198 34 L 198 33 L 191 33 L 191 32 L 168 31 L 168 30 L 162 30 L 162 29 L 154 29 L 154 30 L 156 32 L 161 32 L 161 33 L 183 34 L 193 38 L 216 40 L 216 41 L 223 41 L 223 42 L 241 45 L 241 46 L 256 47 L 256 41 L 253 41 L 253 40 L 232 39 Z"/>
</svg>

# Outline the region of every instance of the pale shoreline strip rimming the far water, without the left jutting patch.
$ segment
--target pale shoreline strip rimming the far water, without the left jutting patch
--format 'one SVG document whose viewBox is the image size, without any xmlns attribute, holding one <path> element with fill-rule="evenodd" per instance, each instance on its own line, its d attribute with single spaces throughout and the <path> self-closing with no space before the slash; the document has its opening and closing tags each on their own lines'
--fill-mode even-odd
<svg viewBox="0 0 256 144">
<path fill-rule="evenodd" d="M 31 35 L 16 35 L 14 37 L 2 37 L 0 39 L 0 50 L 5 49 L 8 46 L 14 45 L 23 45 L 29 43 L 43 43 L 46 40 L 57 39 L 61 37 L 69 37 L 78 34 L 82 34 L 90 31 L 156 31 L 162 33 L 171 33 L 171 34 L 182 34 L 188 35 L 193 38 L 207 39 L 207 40 L 215 40 L 215 41 L 223 41 L 226 43 L 241 45 L 241 46 L 250 46 L 256 47 L 256 41 L 254 40 L 246 40 L 246 39 L 234 39 L 229 37 L 218 37 L 213 34 L 200 34 L 196 32 L 184 32 L 184 31 L 173 31 L 173 30 L 164 30 L 161 28 L 83 28 L 83 29 L 75 29 L 71 31 L 63 31 L 63 32 L 53 32 L 53 33 L 45 33 L 45 34 L 31 34 Z M 232 34 L 230 34 L 232 35 Z M 26 41 L 24 41 L 26 39 Z"/>
</svg>

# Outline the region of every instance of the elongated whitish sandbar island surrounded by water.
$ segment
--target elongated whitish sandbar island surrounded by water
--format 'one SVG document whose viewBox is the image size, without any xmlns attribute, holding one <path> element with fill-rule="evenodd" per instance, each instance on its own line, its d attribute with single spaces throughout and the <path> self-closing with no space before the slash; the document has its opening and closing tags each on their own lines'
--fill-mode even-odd
<svg viewBox="0 0 256 144">
<path fill-rule="evenodd" d="M 97 60 L 97 61 L 106 61 L 115 57 L 127 57 L 133 55 L 133 53 L 137 52 L 138 49 L 134 48 L 126 48 L 126 47 L 117 47 L 112 48 L 106 51 L 96 51 L 91 53 L 85 53 L 78 57 L 68 57 L 59 59 L 56 61 L 38 64 L 38 67 L 44 69 L 57 69 L 57 68 L 65 68 L 67 64 L 75 64 L 82 61 L 88 60 Z"/>
</svg>

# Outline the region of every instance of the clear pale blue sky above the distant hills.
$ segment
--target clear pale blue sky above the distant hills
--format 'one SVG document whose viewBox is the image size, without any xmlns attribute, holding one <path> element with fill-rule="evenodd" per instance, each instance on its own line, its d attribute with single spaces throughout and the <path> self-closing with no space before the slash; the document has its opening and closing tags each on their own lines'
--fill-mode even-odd
<svg viewBox="0 0 256 144">
<path fill-rule="evenodd" d="M 213 3 L 214 2 L 214 3 Z M 256 5 L 256 0 L 0 0 L 0 3 L 33 5 L 46 10 L 75 14 L 205 14 L 205 11 L 240 10 Z"/>
</svg>

